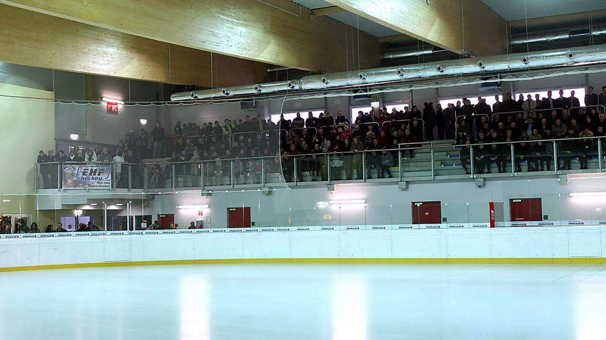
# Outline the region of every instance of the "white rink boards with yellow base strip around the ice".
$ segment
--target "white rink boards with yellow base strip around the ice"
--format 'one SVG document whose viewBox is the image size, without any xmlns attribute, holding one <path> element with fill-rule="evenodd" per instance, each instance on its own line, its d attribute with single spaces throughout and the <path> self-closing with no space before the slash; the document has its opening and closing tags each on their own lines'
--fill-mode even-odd
<svg viewBox="0 0 606 340">
<path fill-rule="evenodd" d="M 0 270 L 255 261 L 604 263 L 605 233 L 606 226 L 599 225 L 422 230 L 402 225 L 21 234 L 0 240 Z"/>
</svg>

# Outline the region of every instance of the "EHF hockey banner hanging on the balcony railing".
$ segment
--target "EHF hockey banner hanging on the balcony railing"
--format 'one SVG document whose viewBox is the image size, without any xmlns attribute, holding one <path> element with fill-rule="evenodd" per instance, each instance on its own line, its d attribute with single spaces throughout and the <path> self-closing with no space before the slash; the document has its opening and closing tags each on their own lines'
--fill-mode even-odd
<svg viewBox="0 0 606 340">
<path fill-rule="evenodd" d="M 112 188 L 110 165 L 64 165 L 62 171 L 64 189 Z"/>
</svg>

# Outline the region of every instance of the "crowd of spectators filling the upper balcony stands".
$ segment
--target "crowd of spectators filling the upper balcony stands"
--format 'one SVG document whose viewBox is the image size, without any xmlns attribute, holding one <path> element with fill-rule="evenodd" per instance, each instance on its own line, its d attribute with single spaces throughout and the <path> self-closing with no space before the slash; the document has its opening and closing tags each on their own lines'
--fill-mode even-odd
<svg viewBox="0 0 606 340">
<path fill-rule="evenodd" d="M 562 165 L 558 163 L 558 166 L 570 169 L 570 160 L 576 157 L 581 168 L 587 167 L 587 159 L 596 152 L 596 142 L 582 137 L 604 136 L 605 113 L 598 105 L 606 105 L 606 87 L 600 94 L 588 87 L 586 106 L 582 108 L 574 91 L 570 97 L 564 97 L 561 90 L 556 98 L 551 91 L 544 98 L 520 95 L 515 100 L 510 93 L 503 98 L 500 101 L 496 96 L 492 106 L 479 97 L 476 105 L 464 98 L 446 108 L 427 102 L 422 110 L 413 105 L 402 111 L 395 108 L 359 111 L 353 122 L 339 111 L 336 116 L 321 113 L 319 117 L 310 112 L 305 118 L 297 113 L 292 120 L 281 116 L 277 124 L 249 116 L 233 122 L 225 119 L 222 125 L 219 121 L 201 125 L 176 122 L 170 132 L 156 123 L 150 132 L 145 129 L 129 131 L 112 150 L 90 148 L 67 154 L 63 150 L 57 154 L 53 150 L 40 151 L 38 163 L 41 163 L 43 182 L 40 186 L 56 188 L 59 171 L 56 165 L 48 163 L 112 162 L 116 188 L 128 188 L 128 185 L 142 188 L 144 173 L 147 173 L 148 188 L 163 188 L 166 181 L 173 179 L 166 162 L 151 165 L 141 162 L 159 158 L 175 164 L 176 177 L 199 177 L 202 160 L 212 161 L 205 163 L 206 178 L 222 178 L 233 171 L 235 176 L 254 178 L 255 183 L 263 173 L 279 171 L 280 167 L 287 181 L 294 180 L 295 176 L 301 180 L 301 172 L 309 172 L 311 180 L 325 180 L 329 168 L 333 179 L 361 178 L 364 171 L 370 174 L 373 169 L 378 178 L 391 177 L 390 168 L 398 162 L 398 151 L 393 149 L 401 147 L 404 150 L 402 157 L 412 159 L 415 145 L 411 143 L 441 139 L 453 139 L 456 145 L 465 145 L 461 148 L 461 165 L 467 172 L 470 172 L 472 152 L 475 173 L 490 172 L 493 163 L 499 171 L 505 172 L 511 162 L 508 142 L 522 142 L 516 145 L 518 170 L 523 160 L 528 162 L 529 171 L 549 170 L 551 143 L 540 141 L 573 138 L 570 142 L 559 142 Z M 474 144 L 478 146 L 471 151 Z M 359 153 L 352 153 L 356 151 L 367 151 L 365 159 L 362 160 Z M 277 156 L 278 152 L 282 157 L 297 157 L 296 165 L 273 157 L 265 161 L 262 169 L 262 163 L 256 157 Z M 318 155 L 321 153 L 331 154 L 330 161 Z M 146 172 L 145 166 L 148 166 Z M 299 167 L 298 171 L 295 166 Z M 125 183 L 125 171 L 131 172 L 131 183 Z M 215 184 L 223 184 L 222 179 Z M 192 182 L 190 186 L 196 186 L 196 183 Z"/>
</svg>

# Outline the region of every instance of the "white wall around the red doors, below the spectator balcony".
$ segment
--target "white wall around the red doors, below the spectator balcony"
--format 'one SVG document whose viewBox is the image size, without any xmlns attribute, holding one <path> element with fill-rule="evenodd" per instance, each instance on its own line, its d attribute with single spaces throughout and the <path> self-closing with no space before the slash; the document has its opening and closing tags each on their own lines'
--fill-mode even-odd
<svg viewBox="0 0 606 340">
<path fill-rule="evenodd" d="M 227 226 L 227 208 L 250 207 L 251 221 L 256 226 L 319 226 L 348 224 L 405 224 L 412 222 L 413 201 L 441 201 L 442 217 L 449 223 L 488 221 L 488 202 L 505 203 L 505 220 L 510 216 L 510 198 L 542 198 L 545 220 L 606 220 L 606 200 L 571 198 L 570 192 L 606 191 L 606 178 L 571 179 L 568 183 L 557 178 L 490 179 L 483 188 L 473 180 L 413 182 L 401 191 L 396 183 L 387 185 L 336 185 L 333 192 L 321 188 L 294 188 L 261 192 L 213 192 L 202 197 L 199 192 L 157 195 L 145 208 L 145 214 L 175 214 L 179 226 L 199 220 L 198 211 L 176 209 L 182 204 L 209 204 L 204 218 L 205 227 Z M 367 208 L 342 209 L 329 206 L 318 208 L 318 201 L 365 199 Z M 133 212 L 137 214 L 136 212 Z"/>
</svg>

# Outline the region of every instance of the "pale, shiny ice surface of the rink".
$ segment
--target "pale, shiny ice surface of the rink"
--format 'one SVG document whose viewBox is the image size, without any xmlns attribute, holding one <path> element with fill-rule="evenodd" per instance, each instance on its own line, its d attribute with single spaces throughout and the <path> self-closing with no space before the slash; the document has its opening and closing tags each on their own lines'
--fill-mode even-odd
<svg viewBox="0 0 606 340">
<path fill-rule="evenodd" d="M 0 339 L 604 339 L 606 266 L 0 273 Z"/>
</svg>

